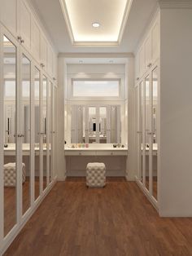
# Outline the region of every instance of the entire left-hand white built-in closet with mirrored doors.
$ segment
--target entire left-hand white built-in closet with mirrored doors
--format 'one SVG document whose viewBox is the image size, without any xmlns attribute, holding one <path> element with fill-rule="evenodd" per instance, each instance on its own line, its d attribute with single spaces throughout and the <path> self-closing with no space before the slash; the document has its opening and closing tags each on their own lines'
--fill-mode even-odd
<svg viewBox="0 0 192 256">
<path fill-rule="evenodd" d="M 12 14 L 0 15 L 2 254 L 55 183 L 57 83 L 56 55 L 28 2 L 0 3 Z"/>
</svg>

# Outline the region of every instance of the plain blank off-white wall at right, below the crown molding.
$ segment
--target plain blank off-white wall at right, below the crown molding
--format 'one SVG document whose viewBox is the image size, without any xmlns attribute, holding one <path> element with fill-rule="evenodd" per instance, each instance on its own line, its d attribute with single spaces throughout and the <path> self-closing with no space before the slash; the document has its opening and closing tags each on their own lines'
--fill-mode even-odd
<svg viewBox="0 0 192 256">
<path fill-rule="evenodd" d="M 159 214 L 192 217 L 192 9 L 160 20 Z"/>
</svg>

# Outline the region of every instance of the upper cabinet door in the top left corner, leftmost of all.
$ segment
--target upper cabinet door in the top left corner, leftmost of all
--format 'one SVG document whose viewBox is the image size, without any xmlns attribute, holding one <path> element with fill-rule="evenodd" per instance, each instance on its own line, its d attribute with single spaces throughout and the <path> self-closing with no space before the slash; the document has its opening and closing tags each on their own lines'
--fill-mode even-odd
<svg viewBox="0 0 192 256">
<path fill-rule="evenodd" d="M 17 37 L 17 0 L 0 0 L 0 18 L 2 24 Z"/>
</svg>

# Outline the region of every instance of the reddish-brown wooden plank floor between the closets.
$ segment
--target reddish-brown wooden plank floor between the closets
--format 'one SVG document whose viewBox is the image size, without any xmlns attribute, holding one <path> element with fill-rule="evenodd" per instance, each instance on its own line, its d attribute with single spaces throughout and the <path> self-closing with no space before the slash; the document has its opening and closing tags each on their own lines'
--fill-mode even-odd
<svg viewBox="0 0 192 256">
<path fill-rule="evenodd" d="M 192 218 L 159 218 L 136 183 L 56 183 L 5 255 L 192 255 Z"/>
</svg>

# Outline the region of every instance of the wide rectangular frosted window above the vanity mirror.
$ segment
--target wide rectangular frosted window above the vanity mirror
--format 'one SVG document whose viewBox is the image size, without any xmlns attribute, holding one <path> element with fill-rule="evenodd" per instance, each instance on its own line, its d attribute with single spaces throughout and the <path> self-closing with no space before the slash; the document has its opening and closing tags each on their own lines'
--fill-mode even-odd
<svg viewBox="0 0 192 256">
<path fill-rule="evenodd" d="M 119 80 L 73 80 L 73 97 L 119 97 Z"/>
</svg>

